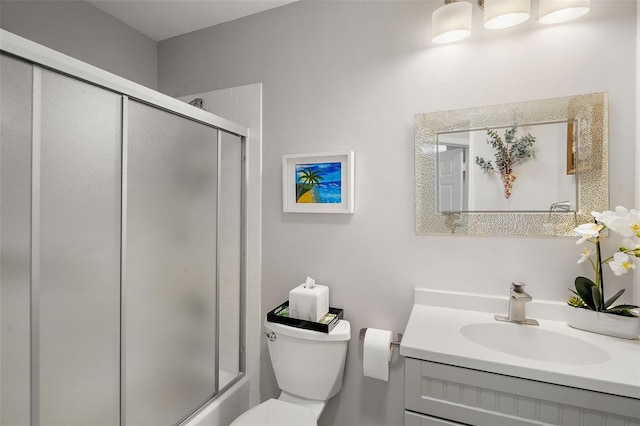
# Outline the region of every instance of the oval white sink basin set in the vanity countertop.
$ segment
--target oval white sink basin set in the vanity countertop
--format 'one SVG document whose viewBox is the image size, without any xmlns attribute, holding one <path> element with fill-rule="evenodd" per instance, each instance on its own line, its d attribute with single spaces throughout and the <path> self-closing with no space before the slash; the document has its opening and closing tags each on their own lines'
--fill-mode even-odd
<svg viewBox="0 0 640 426">
<path fill-rule="evenodd" d="M 586 340 L 530 325 L 468 324 L 460 328 L 460 333 L 487 349 L 537 361 L 575 365 L 599 364 L 609 359 L 605 350 Z"/>
</svg>

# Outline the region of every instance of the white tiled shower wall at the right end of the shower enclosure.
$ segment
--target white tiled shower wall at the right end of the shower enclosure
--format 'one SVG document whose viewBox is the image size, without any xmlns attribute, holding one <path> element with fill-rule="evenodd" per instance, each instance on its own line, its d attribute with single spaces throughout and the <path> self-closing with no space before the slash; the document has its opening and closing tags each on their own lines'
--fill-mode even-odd
<svg viewBox="0 0 640 426">
<path fill-rule="evenodd" d="M 230 89 L 196 93 L 180 99 L 191 101 L 202 98 L 204 108 L 218 116 L 240 123 L 249 128 L 247 138 L 247 309 L 246 342 L 247 377 L 251 382 L 250 405 L 260 402 L 260 314 L 261 298 L 261 205 L 262 205 L 262 84 L 251 84 Z M 233 177 L 239 173 L 236 159 L 239 146 L 232 143 L 235 138 L 223 135 L 222 180 L 237 182 Z M 224 162 L 225 158 L 232 161 Z M 239 186 L 223 185 L 221 191 L 221 264 L 220 264 L 220 369 L 238 371 L 240 323 L 239 296 L 239 247 L 235 231 L 239 226 L 237 211 Z M 231 221 L 231 222 L 229 222 Z M 228 240 L 228 241 L 227 241 Z M 227 244 L 228 243 L 228 244 Z"/>
</svg>

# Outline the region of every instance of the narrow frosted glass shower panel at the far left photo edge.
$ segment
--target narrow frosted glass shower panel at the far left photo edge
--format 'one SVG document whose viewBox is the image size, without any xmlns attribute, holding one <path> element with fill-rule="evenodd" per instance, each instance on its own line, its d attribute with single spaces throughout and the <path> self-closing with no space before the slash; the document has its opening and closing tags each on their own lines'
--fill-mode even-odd
<svg viewBox="0 0 640 426">
<path fill-rule="evenodd" d="M 0 424 L 29 421 L 30 64 L 0 57 Z"/>
</svg>

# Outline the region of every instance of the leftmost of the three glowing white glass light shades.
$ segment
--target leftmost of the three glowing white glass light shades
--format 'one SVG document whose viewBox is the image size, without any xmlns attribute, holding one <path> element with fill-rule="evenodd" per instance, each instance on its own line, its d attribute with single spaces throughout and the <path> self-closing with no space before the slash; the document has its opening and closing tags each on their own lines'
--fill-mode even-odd
<svg viewBox="0 0 640 426">
<path fill-rule="evenodd" d="M 431 16 L 431 35 L 434 43 L 452 43 L 471 34 L 471 3 L 466 1 L 445 4 Z"/>
</svg>

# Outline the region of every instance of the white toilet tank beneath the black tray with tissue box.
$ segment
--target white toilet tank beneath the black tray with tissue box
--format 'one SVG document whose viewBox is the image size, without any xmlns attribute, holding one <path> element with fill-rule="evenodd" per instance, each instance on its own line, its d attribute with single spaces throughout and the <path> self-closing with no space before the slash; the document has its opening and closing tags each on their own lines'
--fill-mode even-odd
<svg viewBox="0 0 640 426">
<path fill-rule="evenodd" d="M 351 325 L 340 320 L 329 333 L 268 322 L 271 365 L 278 387 L 290 394 L 326 401 L 342 388 Z"/>
</svg>

